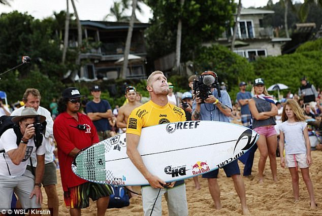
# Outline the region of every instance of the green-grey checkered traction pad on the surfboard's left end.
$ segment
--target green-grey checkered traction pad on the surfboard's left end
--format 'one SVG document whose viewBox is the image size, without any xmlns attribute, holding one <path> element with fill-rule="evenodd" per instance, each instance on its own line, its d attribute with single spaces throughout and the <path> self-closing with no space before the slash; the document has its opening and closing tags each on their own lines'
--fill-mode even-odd
<svg viewBox="0 0 322 216">
<path fill-rule="evenodd" d="M 90 182 L 106 184 L 114 178 L 113 172 L 105 170 L 105 153 L 112 148 L 112 142 L 109 139 L 101 141 L 98 145 L 87 149 L 86 153 L 79 154 L 76 158 L 77 166 L 73 166 L 74 173 L 82 176 Z M 99 157 L 102 157 L 99 159 Z M 94 160 L 95 159 L 95 160 Z M 99 160 L 98 160 L 99 159 Z"/>
</svg>

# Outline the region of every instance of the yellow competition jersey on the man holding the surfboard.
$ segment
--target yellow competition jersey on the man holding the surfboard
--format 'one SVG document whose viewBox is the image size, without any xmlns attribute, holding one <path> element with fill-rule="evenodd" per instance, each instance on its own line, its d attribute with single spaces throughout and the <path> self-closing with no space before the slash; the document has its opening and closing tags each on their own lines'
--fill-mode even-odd
<svg viewBox="0 0 322 216">
<path fill-rule="evenodd" d="M 150 100 L 132 111 L 128 117 L 126 133 L 141 135 L 144 127 L 185 121 L 184 111 L 168 102 L 159 106 Z"/>
</svg>

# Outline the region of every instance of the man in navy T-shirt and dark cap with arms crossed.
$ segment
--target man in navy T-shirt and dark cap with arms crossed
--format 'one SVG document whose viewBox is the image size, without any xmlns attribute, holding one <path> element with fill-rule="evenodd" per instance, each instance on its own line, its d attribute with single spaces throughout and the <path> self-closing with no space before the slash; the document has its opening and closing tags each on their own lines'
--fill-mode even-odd
<svg viewBox="0 0 322 216">
<path fill-rule="evenodd" d="M 109 118 L 112 117 L 111 105 L 107 100 L 101 99 L 101 87 L 94 85 L 90 90 L 93 100 L 87 102 L 86 113 L 93 121 L 98 131 L 100 141 L 111 137 Z"/>
</svg>

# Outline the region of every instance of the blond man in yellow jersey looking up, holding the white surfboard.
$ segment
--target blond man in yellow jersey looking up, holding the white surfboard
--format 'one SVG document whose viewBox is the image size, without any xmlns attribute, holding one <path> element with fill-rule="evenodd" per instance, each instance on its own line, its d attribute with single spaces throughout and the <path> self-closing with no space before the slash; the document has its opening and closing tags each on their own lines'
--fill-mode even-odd
<svg viewBox="0 0 322 216">
<path fill-rule="evenodd" d="M 169 215 L 188 215 L 184 182 L 166 184 L 149 172 L 137 150 L 142 128 L 185 121 L 185 114 L 182 109 L 169 103 L 169 85 L 162 71 L 154 71 L 148 77 L 146 89 L 151 100 L 132 111 L 126 129 L 126 154 L 150 184 L 141 189 L 144 215 L 151 215 L 152 212 L 153 215 L 162 215 L 163 194 L 167 197 Z"/>
</svg>

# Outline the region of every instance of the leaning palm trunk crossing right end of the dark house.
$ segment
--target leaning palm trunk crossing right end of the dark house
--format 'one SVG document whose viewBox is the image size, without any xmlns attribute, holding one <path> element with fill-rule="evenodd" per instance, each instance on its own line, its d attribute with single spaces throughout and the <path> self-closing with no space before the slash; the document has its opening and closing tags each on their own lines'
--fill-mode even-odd
<svg viewBox="0 0 322 216">
<path fill-rule="evenodd" d="M 131 15 L 130 24 L 128 26 L 128 31 L 127 31 L 125 50 L 124 50 L 124 61 L 123 61 L 123 67 L 122 67 L 121 76 L 120 76 L 122 79 L 126 79 L 128 54 L 130 54 L 131 39 L 132 39 L 132 32 L 133 32 L 133 25 L 134 25 L 134 20 L 135 20 L 135 10 L 136 9 L 137 9 L 137 0 L 133 0 L 132 1 L 132 15 Z"/>
</svg>

